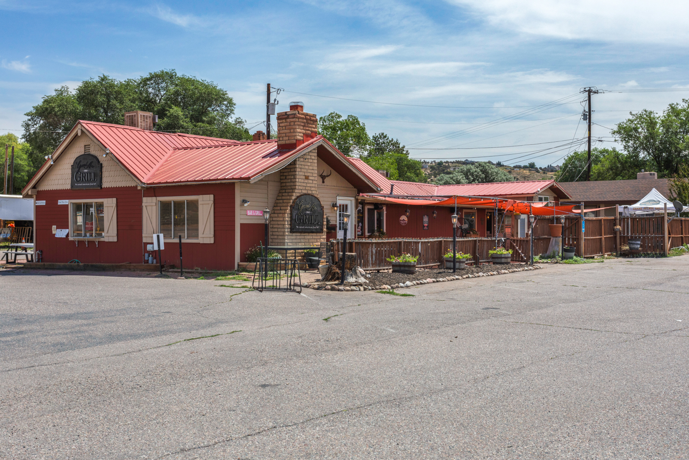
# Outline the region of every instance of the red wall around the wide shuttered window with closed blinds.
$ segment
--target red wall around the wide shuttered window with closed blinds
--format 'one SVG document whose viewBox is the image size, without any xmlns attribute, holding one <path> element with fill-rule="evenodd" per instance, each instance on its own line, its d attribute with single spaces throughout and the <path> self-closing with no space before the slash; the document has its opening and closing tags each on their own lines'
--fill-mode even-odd
<svg viewBox="0 0 689 460">
<path fill-rule="evenodd" d="M 210 194 L 213 195 L 214 205 L 214 243 L 182 243 L 184 266 L 189 269 L 234 270 L 234 232 L 236 230 L 234 183 L 155 187 L 147 188 L 144 191 L 145 197 L 185 197 Z M 138 214 L 141 221 L 141 210 Z M 141 233 L 141 223 L 139 229 Z M 179 266 L 179 244 L 165 243 L 162 259 L 167 263 L 174 263 L 175 266 Z"/>
</svg>

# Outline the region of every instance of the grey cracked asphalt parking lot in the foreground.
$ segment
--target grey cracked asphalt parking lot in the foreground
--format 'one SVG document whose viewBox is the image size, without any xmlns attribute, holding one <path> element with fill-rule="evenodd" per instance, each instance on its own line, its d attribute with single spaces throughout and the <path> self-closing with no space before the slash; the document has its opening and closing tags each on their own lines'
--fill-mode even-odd
<svg viewBox="0 0 689 460">
<path fill-rule="evenodd" d="M 688 269 L 413 297 L 0 274 L 0 457 L 687 459 Z"/>
</svg>

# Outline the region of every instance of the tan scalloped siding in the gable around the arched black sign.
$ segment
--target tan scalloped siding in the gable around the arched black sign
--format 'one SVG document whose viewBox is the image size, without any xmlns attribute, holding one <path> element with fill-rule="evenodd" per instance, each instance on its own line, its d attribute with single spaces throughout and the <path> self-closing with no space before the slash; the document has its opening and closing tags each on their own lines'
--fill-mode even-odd
<svg viewBox="0 0 689 460">
<path fill-rule="evenodd" d="M 137 185 L 132 176 L 123 170 L 110 155 L 103 157 L 105 152 L 88 137 L 88 134 L 82 132 L 81 136 L 74 137 L 70 145 L 55 160 L 55 164 L 50 167 L 48 172 L 37 183 L 36 188 L 38 190 L 69 190 L 71 186 L 72 163 L 74 163 L 76 157 L 83 154 L 84 144 L 90 144 L 90 153 L 96 155 L 103 163 L 103 188 Z"/>
</svg>

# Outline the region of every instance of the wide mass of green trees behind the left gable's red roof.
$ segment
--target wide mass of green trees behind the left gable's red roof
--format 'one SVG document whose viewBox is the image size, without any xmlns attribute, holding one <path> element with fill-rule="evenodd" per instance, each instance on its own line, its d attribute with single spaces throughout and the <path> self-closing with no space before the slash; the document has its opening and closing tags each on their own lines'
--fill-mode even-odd
<svg viewBox="0 0 689 460">
<path fill-rule="evenodd" d="M 159 70 L 119 81 L 101 75 L 82 81 L 76 90 L 61 86 L 26 113 L 23 139 L 31 146 L 35 171 L 77 120 L 124 123 L 124 113 L 145 110 L 158 115 L 159 131 L 187 132 L 238 141 L 251 140 L 245 121 L 234 116 L 235 103 L 211 81 Z M 169 119 L 167 117 L 169 116 Z"/>
</svg>

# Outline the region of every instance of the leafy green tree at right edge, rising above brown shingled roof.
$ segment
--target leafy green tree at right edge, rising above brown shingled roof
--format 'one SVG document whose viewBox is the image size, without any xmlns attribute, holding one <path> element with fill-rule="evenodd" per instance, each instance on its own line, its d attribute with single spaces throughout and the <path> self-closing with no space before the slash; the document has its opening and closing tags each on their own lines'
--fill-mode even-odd
<svg viewBox="0 0 689 460">
<path fill-rule="evenodd" d="M 617 123 L 613 136 L 635 163 L 646 163 L 659 177 L 670 177 L 689 159 L 689 99 L 662 114 L 641 110 Z"/>
</svg>

